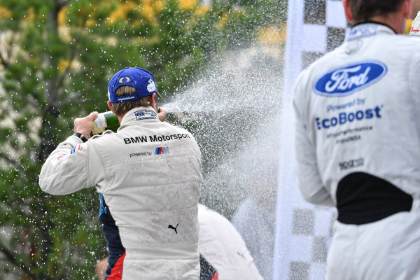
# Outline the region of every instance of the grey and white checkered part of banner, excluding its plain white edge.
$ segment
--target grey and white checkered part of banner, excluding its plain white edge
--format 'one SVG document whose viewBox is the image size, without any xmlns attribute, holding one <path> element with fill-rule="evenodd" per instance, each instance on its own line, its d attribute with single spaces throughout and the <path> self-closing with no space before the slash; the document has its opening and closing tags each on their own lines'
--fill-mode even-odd
<svg viewBox="0 0 420 280">
<path fill-rule="evenodd" d="M 302 69 L 334 50 L 344 41 L 346 20 L 342 15 L 342 1 L 304 1 L 304 31 L 308 41 L 302 52 Z M 332 236 L 335 211 L 309 204 L 293 209 L 293 237 L 290 257 L 290 280 L 318 280 L 325 278 L 325 263 Z"/>
</svg>

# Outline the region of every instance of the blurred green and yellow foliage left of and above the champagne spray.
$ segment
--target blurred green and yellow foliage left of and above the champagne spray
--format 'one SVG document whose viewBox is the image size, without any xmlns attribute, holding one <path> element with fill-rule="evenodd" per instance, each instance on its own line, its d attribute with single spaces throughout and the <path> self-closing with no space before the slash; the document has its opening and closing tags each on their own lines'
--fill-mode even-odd
<svg viewBox="0 0 420 280">
<path fill-rule="evenodd" d="M 2 0 L 0 275 L 95 279 L 94 265 L 106 256 L 96 190 L 43 193 L 45 159 L 71 135 L 74 118 L 107 111 L 116 71 L 149 69 L 170 97 L 214 53 L 252 43 L 262 25 L 279 25 L 283 2 Z"/>
</svg>

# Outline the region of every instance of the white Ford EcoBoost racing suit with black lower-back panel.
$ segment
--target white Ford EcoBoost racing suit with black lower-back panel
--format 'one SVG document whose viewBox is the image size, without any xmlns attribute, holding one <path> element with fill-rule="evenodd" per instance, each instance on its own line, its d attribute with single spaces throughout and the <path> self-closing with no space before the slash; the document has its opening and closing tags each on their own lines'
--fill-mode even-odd
<svg viewBox="0 0 420 280">
<path fill-rule="evenodd" d="M 327 279 L 420 279 L 420 38 L 353 27 L 295 85 L 302 196 L 336 206 Z"/>
</svg>

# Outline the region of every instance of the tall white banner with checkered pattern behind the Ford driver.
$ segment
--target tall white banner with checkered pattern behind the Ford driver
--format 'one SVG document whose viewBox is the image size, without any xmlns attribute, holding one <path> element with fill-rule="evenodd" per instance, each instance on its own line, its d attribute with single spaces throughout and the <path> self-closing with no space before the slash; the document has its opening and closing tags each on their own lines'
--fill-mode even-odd
<svg viewBox="0 0 420 280">
<path fill-rule="evenodd" d="M 304 202 L 297 188 L 293 167 L 293 85 L 302 69 L 342 43 L 346 26 L 342 1 L 288 0 L 274 280 L 325 279 L 336 212 Z"/>
</svg>

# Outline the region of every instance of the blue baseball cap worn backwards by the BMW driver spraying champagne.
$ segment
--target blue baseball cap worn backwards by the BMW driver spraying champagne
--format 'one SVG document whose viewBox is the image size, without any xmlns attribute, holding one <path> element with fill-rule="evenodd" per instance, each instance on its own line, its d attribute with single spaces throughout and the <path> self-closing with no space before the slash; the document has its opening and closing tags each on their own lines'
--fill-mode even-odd
<svg viewBox="0 0 420 280">
<path fill-rule="evenodd" d="M 131 85 L 136 89 L 136 93 L 117 96 L 117 88 L 121 85 Z M 108 97 L 111 103 L 137 100 L 153 93 L 161 97 L 153 74 L 139 67 L 125 67 L 125 69 L 118 71 L 108 84 Z"/>
</svg>

